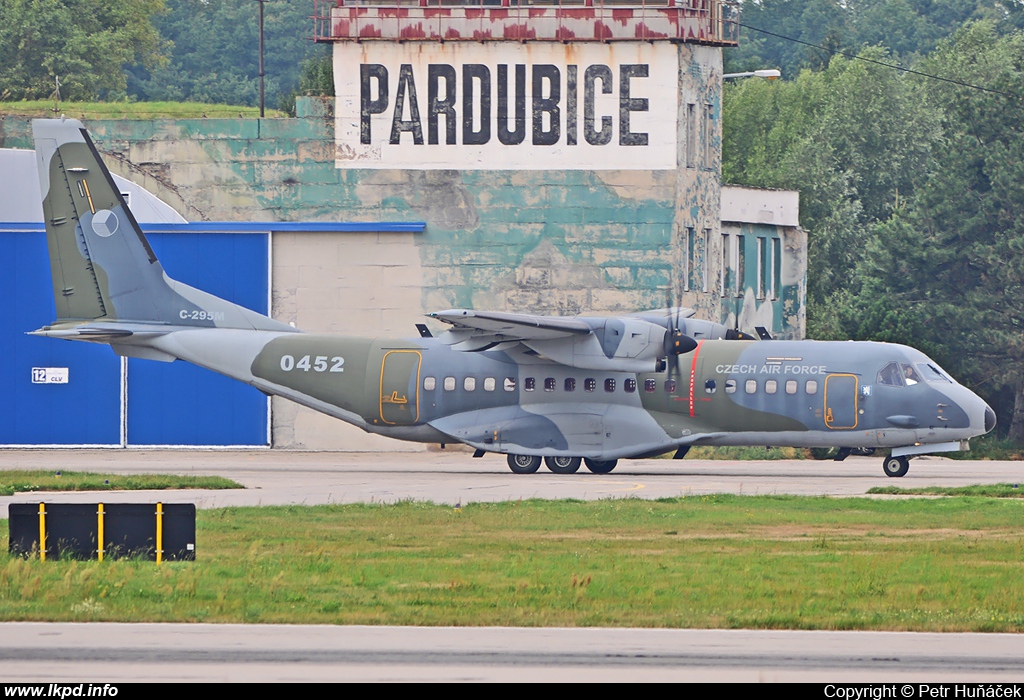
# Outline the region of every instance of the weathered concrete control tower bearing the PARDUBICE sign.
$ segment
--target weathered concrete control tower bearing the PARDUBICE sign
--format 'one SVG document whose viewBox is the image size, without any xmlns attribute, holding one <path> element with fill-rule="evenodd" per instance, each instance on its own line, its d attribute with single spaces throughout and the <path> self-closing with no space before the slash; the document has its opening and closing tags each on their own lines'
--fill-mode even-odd
<svg viewBox="0 0 1024 700">
<path fill-rule="evenodd" d="M 419 187 L 429 210 L 424 308 L 614 313 L 670 289 L 708 318 L 734 308 L 735 3 L 317 0 L 315 27 L 334 44 L 336 167 Z"/>
</svg>

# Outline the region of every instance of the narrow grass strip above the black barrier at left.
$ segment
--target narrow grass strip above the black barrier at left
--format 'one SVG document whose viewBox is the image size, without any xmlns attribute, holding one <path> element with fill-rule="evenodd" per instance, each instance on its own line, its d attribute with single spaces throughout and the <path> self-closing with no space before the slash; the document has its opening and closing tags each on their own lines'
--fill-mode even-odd
<svg viewBox="0 0 1024 700">
<path fill-rule="evenodd" d="M 0 471 L 0 495 L 31 491 L 124 491 L 168 488 L 243 488 L 223 477 L 172 474 L 95 474 L 43 470 Z"/>
</svg>

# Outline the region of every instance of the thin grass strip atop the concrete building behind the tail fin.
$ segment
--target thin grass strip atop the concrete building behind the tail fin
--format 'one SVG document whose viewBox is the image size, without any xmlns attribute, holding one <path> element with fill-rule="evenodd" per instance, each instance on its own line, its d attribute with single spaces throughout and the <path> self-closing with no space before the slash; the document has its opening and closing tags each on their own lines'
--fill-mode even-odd
<svg viewBox="0 0 1024 700">
<path fill-rule="evenodd" d="M 268 118 L 287 117 L 284 112 L 266 110 Z M 259 107 L 201 102 L 60 102 L 37 99 L 0 102 L 0 115 L 59 117 L 74 119 L 256 119 Z"/>
</svg>

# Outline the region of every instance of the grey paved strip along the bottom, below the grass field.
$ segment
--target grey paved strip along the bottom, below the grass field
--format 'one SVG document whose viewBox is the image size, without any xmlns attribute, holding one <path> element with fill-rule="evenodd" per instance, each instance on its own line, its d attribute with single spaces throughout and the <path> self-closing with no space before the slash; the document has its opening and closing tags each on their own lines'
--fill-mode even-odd
<svg viewBox="0 0 1024 700">
<path fill-rule="evenodd" d="M 1019 635 L 38 622 L 0 630 L 6 683 L 935 684 L 1024 676 Z"/>
</svg>

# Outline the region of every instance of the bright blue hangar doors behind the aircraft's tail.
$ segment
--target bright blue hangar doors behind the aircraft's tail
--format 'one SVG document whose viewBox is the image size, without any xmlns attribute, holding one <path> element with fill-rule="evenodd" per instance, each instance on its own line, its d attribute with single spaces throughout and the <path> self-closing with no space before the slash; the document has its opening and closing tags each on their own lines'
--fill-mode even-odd
<svg viewBox="0 0 1024 700">
<path fill-rule="evenodd" d="M 187 231 L 188 225 L 180 227 Z M 146 232 L 167 273 L 267 312 L 269 233 Z M 14 274 L 0 329 L 0 444 L 266 445 L 268 402 L 256 389 L 185 362 L 122 359 L 106 346 L 26 336 L 54 317 L 46 234 L 0 233 Z M 33 368 L 67 383 L 33 383 Z M 37 373 L 38 374 L 38 373 Z"/>
</svg>

